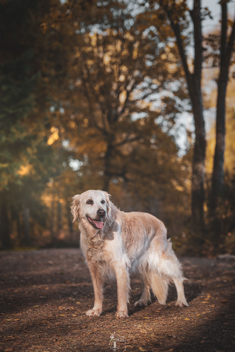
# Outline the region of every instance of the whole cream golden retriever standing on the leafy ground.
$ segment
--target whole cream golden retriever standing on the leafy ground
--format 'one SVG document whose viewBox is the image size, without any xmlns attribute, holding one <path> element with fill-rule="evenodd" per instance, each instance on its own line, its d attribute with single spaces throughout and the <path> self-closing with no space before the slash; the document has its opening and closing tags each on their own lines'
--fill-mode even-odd
<svg viewBox="0 0 235 352">
<path fill-rule="evenodd" d="M 176 306 L 188 306 L 181 265 L 172 250 L 163 223 L 141 212 L 124 213 L 101 190 L 88 190 L 73 197 L 71 212 L 79 220 L 81 249 L 91 273 L 94 307 L 88 316 L 100 316 L 105 277 L 117 279 L 116 318 L 128 317 L 130 270 L 138 273 L 143 292 L 135 306 L 147 306 L 150 289 L 160 304 L 166 304 L 169 282 L 177 289 Z"/>
</svg>

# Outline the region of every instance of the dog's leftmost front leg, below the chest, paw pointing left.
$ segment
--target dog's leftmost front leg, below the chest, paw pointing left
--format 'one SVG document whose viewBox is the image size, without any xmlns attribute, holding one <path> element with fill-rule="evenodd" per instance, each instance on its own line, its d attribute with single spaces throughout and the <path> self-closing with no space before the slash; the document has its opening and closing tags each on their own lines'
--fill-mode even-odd
<svg viewBox="0 0 235 352">
<path fill-rule="evenodd" d="M 101 278 L 99 268 L 97 268 L 97 263 L 88 263 L 88 268 L 91 274 L 95 301 L 94 307 L 87 310 L 86 315 L 100 316 L 103 306 L 103 280 Z"/>
</svg>

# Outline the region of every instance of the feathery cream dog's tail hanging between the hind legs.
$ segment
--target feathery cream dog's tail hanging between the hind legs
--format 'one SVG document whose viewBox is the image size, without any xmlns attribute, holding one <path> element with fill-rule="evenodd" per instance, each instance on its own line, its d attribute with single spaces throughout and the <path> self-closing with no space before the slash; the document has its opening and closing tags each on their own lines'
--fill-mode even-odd
<svg viewBox="0 0 235 352">
<path fill-rule="evenodd" d="M 149 278 L 153 294 L 157 297 L 160 304 L 166 304 L 169 280 L 157 275 L 155 272 L 151 272 Z"/>
</svg>

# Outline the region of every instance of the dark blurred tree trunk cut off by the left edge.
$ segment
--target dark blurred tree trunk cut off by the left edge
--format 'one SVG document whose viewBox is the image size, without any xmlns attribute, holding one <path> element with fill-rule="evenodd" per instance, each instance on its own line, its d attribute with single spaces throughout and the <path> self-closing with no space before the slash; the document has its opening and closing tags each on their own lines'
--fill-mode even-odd
<svg viewBox="0 0 235 352">
<path fill-rule="evenodd" d="M 7 199 L 6 194 L 1 193 L 1 204 L 0 204 L 0 223 L 1 223 L 1 243 L 4 249 L 9 249 L 12 247 L 11 237 L 10 237 L 10 224 L 9 215 L 7 209 Z"/>
</svg>

